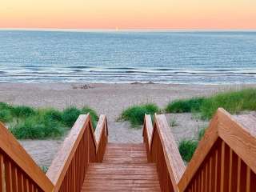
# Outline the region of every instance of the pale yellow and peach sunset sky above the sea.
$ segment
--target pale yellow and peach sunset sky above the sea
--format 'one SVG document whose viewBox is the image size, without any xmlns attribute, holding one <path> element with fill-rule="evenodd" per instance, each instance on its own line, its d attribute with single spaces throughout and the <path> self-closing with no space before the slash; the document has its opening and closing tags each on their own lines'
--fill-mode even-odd
<svg viewBox="0 0 256 192">
<path fill-rule="evenodd" d="M 256 0 L 2 0 L 0 28 L 255 30 Z"/>
</svg>

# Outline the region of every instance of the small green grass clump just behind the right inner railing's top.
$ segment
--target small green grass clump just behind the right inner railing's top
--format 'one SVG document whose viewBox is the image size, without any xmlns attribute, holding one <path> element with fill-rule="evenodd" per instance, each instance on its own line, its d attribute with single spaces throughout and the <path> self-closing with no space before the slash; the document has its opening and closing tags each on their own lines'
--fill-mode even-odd
<svg viewBox="0 0 256 192">
<path fill-rule="evenodd" d="M 145 114 L 154 115 L 159 111 L 158 106 L 154 103 L 130 106 L 122 112 L 120 119 L 129 121 L 132 127 L 138 127 L 143 124 Z"/>
</svg>

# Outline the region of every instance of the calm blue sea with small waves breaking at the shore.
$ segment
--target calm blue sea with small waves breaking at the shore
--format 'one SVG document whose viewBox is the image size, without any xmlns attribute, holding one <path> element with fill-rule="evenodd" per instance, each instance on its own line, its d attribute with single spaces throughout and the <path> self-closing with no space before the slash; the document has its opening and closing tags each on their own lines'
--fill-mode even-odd
<svg viewBox="0 0 256 192">
<path fill-rule="evenodd" d="M 256 32 L 0 30 L 0 82 L 256 83 Z"/>
</svg>

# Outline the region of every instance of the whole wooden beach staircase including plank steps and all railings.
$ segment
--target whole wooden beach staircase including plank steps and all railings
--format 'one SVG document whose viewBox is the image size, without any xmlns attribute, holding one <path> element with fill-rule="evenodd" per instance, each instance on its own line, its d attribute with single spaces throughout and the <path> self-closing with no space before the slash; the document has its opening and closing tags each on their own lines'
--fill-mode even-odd
<svg viewBox="0 0 256 192">
<path fill-rule="evenodd" d="M 255 192 L 256 115 L 218 109 L 184 165 L 163 114 L 145 115 L 143 143 L 109 143 L 80 115 L 46 174 L 0 122 L 0 192 Z"/>
</svg>

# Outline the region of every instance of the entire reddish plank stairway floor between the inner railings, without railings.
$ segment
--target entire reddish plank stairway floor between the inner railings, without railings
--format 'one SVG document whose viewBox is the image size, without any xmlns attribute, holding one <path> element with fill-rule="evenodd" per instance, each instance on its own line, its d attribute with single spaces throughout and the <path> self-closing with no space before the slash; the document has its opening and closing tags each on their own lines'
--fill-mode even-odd
<svg viewBox="0 0 256 192">
<path fill-rule="evenodd" d="M 102 162 L 90 163 L 82 191 L 161 191 L 143 143 L 108 143 Z"/>
</svg>

